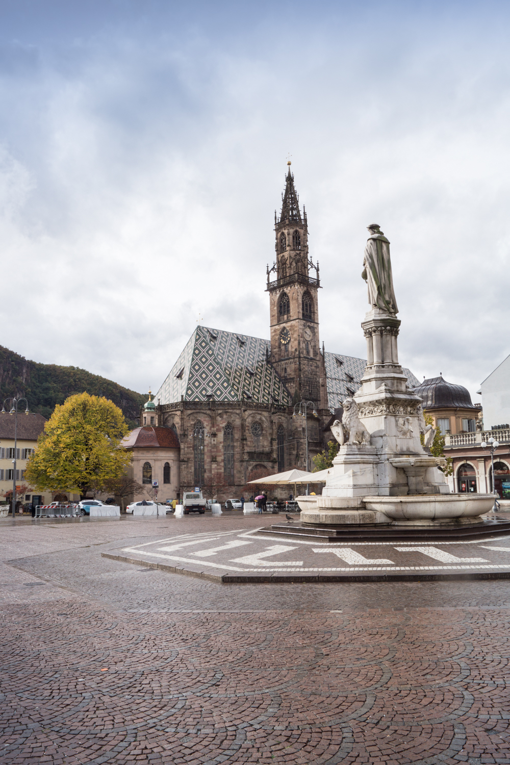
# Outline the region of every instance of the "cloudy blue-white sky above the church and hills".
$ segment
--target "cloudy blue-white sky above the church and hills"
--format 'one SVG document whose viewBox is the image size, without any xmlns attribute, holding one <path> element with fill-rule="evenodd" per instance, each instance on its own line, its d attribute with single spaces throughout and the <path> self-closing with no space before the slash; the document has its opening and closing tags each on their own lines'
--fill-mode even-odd
<svg viewBox="0 0 510 765">
<path fill-rule="evenodd" d="M 197 325 L 268 337 L 287 154 L 326 350 L 365 355 L 368 223 L 401 362 L 510 353 L 508 2 L 0 0 L 2 345 L 144 392 Z"/>
</svg>

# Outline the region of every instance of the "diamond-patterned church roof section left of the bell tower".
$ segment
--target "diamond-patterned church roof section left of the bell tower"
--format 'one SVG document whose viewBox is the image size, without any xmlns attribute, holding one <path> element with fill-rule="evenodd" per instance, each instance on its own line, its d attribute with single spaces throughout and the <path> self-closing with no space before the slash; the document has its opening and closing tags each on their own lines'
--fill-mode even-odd
<svg viewBox="0 0 510 765">
<path fill-rule="evenodd" d="M 197 327 L 154 399 L 161 404 L 180 401 L 278 403 L 288 406 L 291 395 L 271 364 L 266 362 L 269 340 Z"/>
</svg>

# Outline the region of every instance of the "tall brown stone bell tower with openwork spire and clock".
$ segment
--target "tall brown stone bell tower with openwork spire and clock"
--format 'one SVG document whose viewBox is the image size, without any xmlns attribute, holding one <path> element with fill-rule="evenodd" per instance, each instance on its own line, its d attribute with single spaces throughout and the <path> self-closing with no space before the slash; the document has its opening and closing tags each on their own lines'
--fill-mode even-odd
<svg viewBox="0 0 510 765">
<path fill-rule="evenodd" d="M 268 266 L 271 311 L 270 361 L 278 370 L 294 402 L 310 399 L 317 409 L 326 409 L 323 356 L 319 342 L 317 290 L 319 265 L 308 255 L 307 213 L 301 215 L 294 188 L 291 162 L 285 178 L 281 213 L 274 212 L 276 261 Z M 316 278 L 310 277 L 309 269 Z M 276 278 L 271 281 L 271 273 Z"/>
</svg>

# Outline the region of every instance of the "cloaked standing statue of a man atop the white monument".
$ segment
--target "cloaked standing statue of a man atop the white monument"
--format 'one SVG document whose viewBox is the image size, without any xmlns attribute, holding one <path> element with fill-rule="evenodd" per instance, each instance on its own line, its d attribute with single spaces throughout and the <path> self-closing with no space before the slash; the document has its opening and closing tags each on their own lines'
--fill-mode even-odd
<svg viewBox="0 0 510 765">
<path fill-rule="evenodd" d="M 397 301 L 391 277 L 390 243 L 378 223 L 370 223 L 369 239 L 363 258 L 362 278 L 369 288 L 369 304 L 388 314 L 397 314 Z"/>
</svg>

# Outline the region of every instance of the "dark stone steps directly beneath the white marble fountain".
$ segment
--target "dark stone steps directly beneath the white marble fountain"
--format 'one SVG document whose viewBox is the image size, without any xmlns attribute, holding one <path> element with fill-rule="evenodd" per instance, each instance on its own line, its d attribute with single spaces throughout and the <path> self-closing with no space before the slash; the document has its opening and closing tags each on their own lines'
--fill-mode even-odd
<svg viewBox="0 0 510 765">
<path fill-rule="evenodd" d="M 398 540 L 424 540 L 440 542 L 441 540 L 453 539 L 482 539 L 486 536 L 501 536 L 510 534 L 510 520 L 491 518 L 478 522 L 463 523 L 438 523 L 434 526 L 430 522 L 424 526 L 418 526 L 416 522 L 405 525 L 391 523 L 384 526 L 306 526 L 303 523 L 275 523 L 260 529 L 258 533 L 271 533 L 281 536 L 304 536 L 310 539 L 326 539 L 328 542 L 348 542 L 355 539 L 362 541 L 380 540 L 396 542 Z"/>
</svg>

